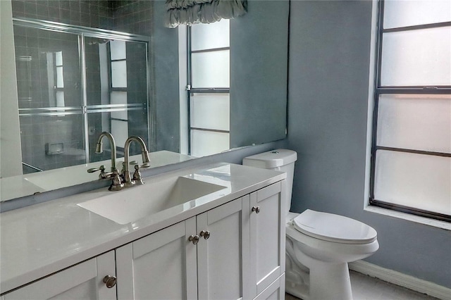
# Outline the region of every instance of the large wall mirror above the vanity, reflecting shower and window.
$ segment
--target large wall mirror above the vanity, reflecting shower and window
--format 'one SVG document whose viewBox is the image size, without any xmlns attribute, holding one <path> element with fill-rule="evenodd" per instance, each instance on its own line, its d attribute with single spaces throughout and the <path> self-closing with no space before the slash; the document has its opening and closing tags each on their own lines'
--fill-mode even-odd
<svg viewBox="0 0 451 300">
<path fill-rule="evenodd" d="M 175 29 L 163 27 L 164 1 L 11 4 L 25 175 L 108 161 L 109 143 L 95 153 L 104 131 L 118 157 L 130 135 L 154 154 L 194 157 L 285 138 L 288 1 Z"/>
</svg>

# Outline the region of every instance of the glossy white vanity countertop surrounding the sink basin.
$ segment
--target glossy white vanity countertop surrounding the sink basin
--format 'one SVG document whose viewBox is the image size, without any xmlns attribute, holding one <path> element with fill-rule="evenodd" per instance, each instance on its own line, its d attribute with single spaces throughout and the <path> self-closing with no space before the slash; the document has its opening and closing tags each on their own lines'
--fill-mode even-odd
<svg viewBox="0 0 451 300">
<path fill-rule="evenodd" d="M 144 180 L 150 182 L 154 177 L 183 175 L 222 185 L 226 189 L 192 200 L 189 205 L 180 204 L 125 225 L 77 206 L 80 202 L 112 193 L 107 188 L 1 213 L 0 293 L 115 249 L 286 177 L 285 173 L 271 170 L 215 163 L 175 170 Z M 121 192 L 126 192 L 126 189 Z"/>
</svg>

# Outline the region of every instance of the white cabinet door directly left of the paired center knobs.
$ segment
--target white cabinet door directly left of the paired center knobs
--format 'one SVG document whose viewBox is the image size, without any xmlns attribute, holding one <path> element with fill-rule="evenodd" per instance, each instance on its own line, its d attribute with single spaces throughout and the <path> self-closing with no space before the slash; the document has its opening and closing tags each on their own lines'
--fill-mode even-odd
<svg viewBox="0 0 451 300">
<path fill-rule="evenodd" d="M 118 299 L 197 299 L 195 217 L 116 249 Z"/>
</svg>

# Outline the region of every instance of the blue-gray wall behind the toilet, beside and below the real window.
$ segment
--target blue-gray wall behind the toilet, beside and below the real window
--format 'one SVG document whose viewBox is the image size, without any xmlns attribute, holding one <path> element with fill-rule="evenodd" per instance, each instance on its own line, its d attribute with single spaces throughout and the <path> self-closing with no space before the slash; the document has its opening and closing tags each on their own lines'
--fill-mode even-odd
<svg viewBox="0 0 451 300">
<path fill-rule="evenodd" d="M 292 1 L 290 9 L 292 211 L 361 220 L 380 243 L 366 261 L 451 287 L 451 232 L 363 211 L 371 1 Z"/>
</svg>

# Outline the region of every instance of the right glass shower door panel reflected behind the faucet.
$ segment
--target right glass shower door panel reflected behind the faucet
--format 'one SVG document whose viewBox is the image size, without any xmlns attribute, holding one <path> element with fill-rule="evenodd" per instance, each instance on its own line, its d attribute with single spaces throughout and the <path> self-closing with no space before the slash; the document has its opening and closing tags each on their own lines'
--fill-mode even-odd
<svg viewBox="0 0 451 300">
<path fill-rule="evenodd" d="M 147 118 L 147 43 L 85 37 L 89 161 L 109 159 L 94 153 L 101 132 L 111 132 L 118 157 L 125 140 L 137 135 L 149 144 Z M 132 144 L 130 154 L 140 154 Z M 119 166 L 120 168 L 120 166 Z"/>
</svg>

